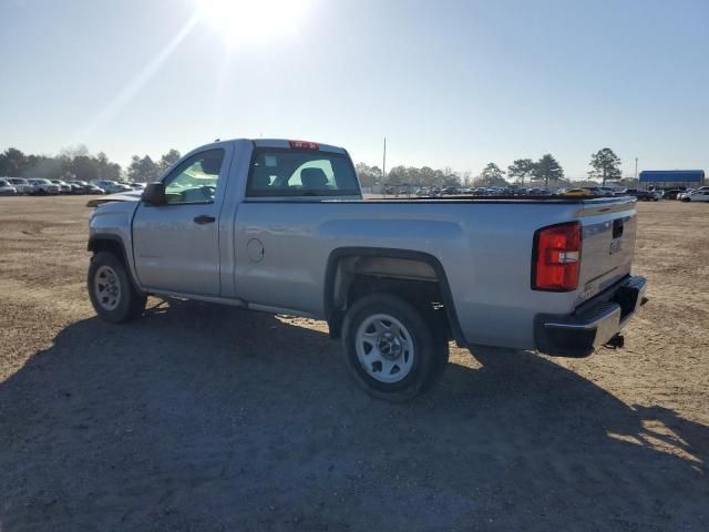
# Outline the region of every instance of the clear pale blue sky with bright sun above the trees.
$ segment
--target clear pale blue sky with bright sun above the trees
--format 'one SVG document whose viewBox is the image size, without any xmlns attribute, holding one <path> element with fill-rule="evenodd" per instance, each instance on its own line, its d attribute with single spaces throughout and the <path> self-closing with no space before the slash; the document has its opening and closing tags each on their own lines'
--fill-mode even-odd
<svg viewBox="0 0 709 532">
<path fill-rule="evenodd" d="M 127 164 L 215 139 L 585 177 L 709 171 L 707 0 L 0 0 L 0 151 Z"/>
</svg>

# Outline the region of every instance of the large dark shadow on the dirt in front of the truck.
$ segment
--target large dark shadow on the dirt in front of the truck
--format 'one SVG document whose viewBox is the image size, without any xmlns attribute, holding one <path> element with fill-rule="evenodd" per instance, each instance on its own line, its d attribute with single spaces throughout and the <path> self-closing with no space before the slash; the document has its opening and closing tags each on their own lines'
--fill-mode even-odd
<svg viewBox="0 0 709 532">
<path fill-rule="evenodd" d="M 0 383 L 0 529 L 706 529 L 708 427 L 474 355 L 388 405 L 277 317 L 72 324 Z"/>
</svg>

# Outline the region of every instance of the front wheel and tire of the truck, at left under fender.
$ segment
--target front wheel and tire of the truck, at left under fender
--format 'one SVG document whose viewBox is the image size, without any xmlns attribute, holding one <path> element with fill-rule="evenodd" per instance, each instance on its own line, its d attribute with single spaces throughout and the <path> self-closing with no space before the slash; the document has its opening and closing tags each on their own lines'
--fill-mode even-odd
<svg viewBox="0 0 709 532">
<path fill-rule="evenodd" d="M 147 297 L 135 288 L 123 260 L 111 252 L 99 252 L 91 258 L 88 287 L 91 304 L 104 321 L 123 324 L 145 310 Z"/>
</svg>

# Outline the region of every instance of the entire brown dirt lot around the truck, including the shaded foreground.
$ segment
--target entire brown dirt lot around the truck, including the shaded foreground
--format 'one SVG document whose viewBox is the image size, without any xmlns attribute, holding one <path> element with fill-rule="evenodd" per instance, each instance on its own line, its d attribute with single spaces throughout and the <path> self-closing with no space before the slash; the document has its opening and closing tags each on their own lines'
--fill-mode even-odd
<svg viewBox="0 0 709 532">
<path fill-rule="evenodd" d="M 625 350 L 454 348 L 393 406 L 321 323 L 99 321 L 85 202 L 0 198 L 0 531 L 709 530 L 709 205 L 638 205 Z"/>
</svg>

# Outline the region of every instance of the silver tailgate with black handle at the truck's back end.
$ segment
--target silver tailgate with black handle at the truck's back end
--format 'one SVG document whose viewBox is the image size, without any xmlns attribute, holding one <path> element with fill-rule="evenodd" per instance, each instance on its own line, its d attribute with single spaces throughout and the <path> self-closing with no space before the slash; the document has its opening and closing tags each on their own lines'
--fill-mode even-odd
<svg viewBox="0 0 709 532">
<path fill-rule="evenodd" d="M 586 300 L 630 274 L 635 253 L 635 198 L 584 202 L 579 213 L 579 298 Z"/>
</svg>

